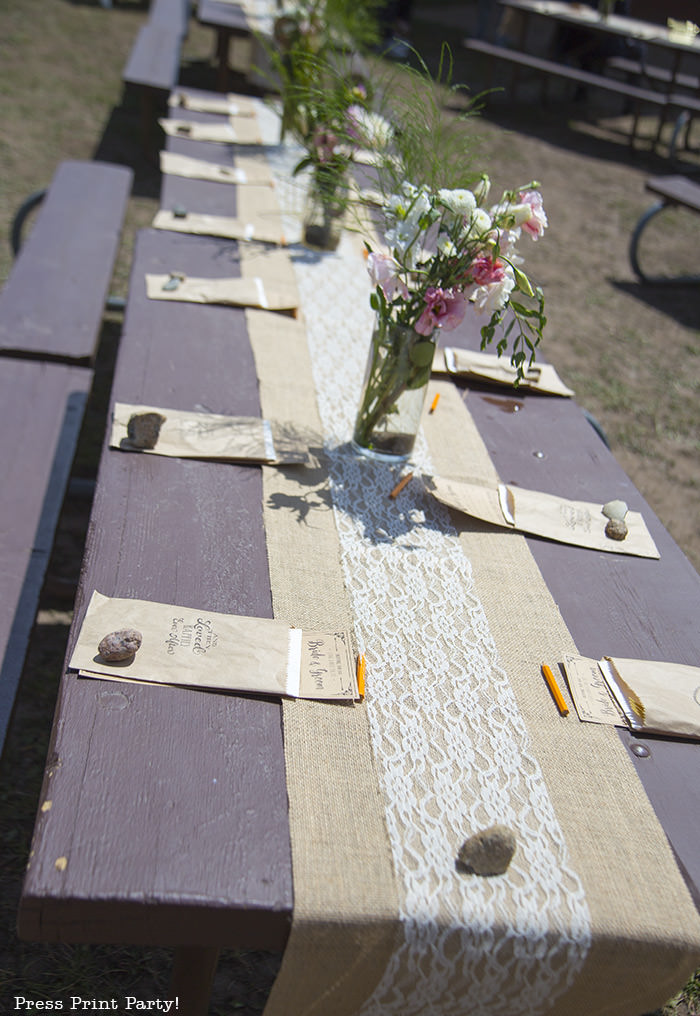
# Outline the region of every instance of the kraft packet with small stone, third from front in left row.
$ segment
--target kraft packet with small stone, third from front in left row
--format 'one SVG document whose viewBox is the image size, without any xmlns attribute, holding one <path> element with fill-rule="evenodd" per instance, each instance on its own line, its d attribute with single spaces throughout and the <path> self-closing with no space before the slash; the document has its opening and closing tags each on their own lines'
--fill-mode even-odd
<svg viewBox="0 0 700 1016">
<path fill-rule="evenodd" d="M 277 253 L 282 253 L 278 251 Z M 164 289 L 177 283 L 175 289 Z M 292 282 L 250 278 L 179 278 L 177 274 L 146 274 L 149 300 L 174 300 L 192 304 L 226 304 L 260 307 L 266 311 L 289 311 L 299 307 L 299 292 Z"/>
</svg>

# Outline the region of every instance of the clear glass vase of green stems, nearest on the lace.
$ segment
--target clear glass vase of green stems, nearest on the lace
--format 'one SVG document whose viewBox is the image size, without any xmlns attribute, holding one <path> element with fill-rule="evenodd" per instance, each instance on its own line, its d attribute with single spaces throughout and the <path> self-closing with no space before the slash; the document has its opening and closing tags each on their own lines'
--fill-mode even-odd
<svg viewBox="0 0 700 1016">
<path fill-rule="evenodd" d="M 358 451 L 386 461 L 408 458 L 421 423 L 434 353 L 430 335 L 377 314 L 353 434 Z"/>
</svg>

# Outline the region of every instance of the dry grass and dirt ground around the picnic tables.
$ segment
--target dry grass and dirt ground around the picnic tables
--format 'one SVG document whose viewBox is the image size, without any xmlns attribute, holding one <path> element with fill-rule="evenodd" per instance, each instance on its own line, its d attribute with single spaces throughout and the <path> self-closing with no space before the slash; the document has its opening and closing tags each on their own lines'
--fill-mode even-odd
<svg viewBox="0 0 700 1016">
<path fill-rule="evenodd" d="M 137 105 L 123 94 L 121 82 L 146 6 L 115 0 L 112 10 L 104 10 L 98 0 L 0 0 L 0 285 L 11 265 L 3 238 L 20 201 L 47 185 L 61 160 L 99 157 L 129 165 L 135 173 L 112 284 L 113 293 L 126 296 L 134 234 L 149 224 L 160 189 L 156 167 L 141 151 Z M 474 8 L 458 0 L 418 2 L 413 37 L 427 58 L 449 38 L 455 79 L 479 89 L 479 64 L 465 61 L 458 49 L 460 29 L 454 30 L 460 19 L 473 20 Z M 213 87 L 211 54 L 210 34 L 193 21 L 182 80 Z M 496 188 L 542 181 L 550 229 L 527 254 L 528 269 L 548 301 L 544 353 L 576 389 L 633 482 L 700 568 L 700 287 L 643 287 L 627 253 L 631 231 L 650 203 L 645 179 L 671 167 L 662 152 L 629 150 L 629 117 L 619 109 L 574 106 L 564 96 L 545 109 L 534 91 L 530 96 L 531 101 L 518 104 L 495 96 L 474 122 L 469 144 L 478 146 L 479 162 Z M 654 126 L 650 118 L 642 123 L 649 137 Z M 681 171 L 700 174 L 697 153 L 684 153 Z M 699 223 L 690 213 L 659 220 L 644 244 L 644 263 L 697 270 Z M 99 384 L 76 463 L 80 478 L 94 474 L 120 323 L 119 315 L 108 315 Z M 72 497 L 64 509 L 2 761 L 3 1012 L 14 1009 L 14 995 L 155 998 L 167 991 L 170 957 L 165 951 L 37 947 L 18 942 L 14 933 L 88 515 L 88 497 Z M 212 1013 L 261 1012 L 276 962 L 274 956 L 258 954 L 225 956 Z M 664 1014 L 700 1014 L 697 977 Z"/>
</svg>

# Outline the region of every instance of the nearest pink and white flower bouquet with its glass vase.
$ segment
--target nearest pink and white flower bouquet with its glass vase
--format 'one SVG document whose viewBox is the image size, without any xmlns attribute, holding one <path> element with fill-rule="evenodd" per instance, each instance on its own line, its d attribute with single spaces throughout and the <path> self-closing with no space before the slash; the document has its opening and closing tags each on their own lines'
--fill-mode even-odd
<svg viewBox="0 0 700 1016">
<path fill-rule="evenodd" d="M 440 125 L 420 115 L 425 108 L 412 102 L 394 124 L 394 149 L 378 170 L 385 248 L 366 243 L 376 319 L 353 440 L 375 457 L 405 458 L 412 449 L 437 329 L 455 328 L 467 309 L 487 315 L 482 347 L 500 328 L 498 352 L 510 344 L 522 378 L 546 323 L 543 292 L 518 252 L 523 236 L 536 241 L 547 227 L 538 185 L 506 191 L 493 204 L 485 174 L 471 174 L 470 187 L 440 186 L 440 176 L 452 182 L 449 154 L 459 135 L 441 143 Z M 457 173 L 463 165 L 462 154 Z"/>
</svg>

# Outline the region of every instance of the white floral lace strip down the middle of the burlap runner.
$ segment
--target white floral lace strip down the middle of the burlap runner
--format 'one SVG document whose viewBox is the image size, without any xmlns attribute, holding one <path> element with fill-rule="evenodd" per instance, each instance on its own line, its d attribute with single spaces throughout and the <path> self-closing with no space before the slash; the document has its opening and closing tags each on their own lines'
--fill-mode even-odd
<svg viewBox="0 0 700 1016">
<path fill-rule="evenodd" d="M 269 158 L 285 207 L 296 158 Z M 583 889 L 447 511 L 416 481 L 390 500 L 398 474 L 351 448 L 373 323 L 358 246 L 291 253 L 402 898 L 403 942 L 358 1016 L 536 1016 L 585 960 Z M 411 464 L 432 471 L 421 435 Z M 493 822 L 517 836 L 507 874 L 460 875 Z"/>
</svg>

